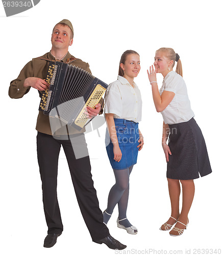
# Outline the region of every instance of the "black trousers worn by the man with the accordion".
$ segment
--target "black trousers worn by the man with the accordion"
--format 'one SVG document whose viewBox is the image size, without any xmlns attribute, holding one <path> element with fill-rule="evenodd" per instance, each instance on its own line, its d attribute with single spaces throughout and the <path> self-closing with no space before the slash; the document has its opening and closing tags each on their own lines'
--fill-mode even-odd
<svg viewBox="0 0 222 256">
<path fill-rule="evenodd" d="M 98 206 L 89 156 L 76 159 L 75 150 L 73 151 L 73 143 L 75 141 L 78 144 L 77 148 L 82 147 L 87 151 L 84 134 L 72 136 L 71 141 L 67 139 L 62 140 L 62 138 L 55 139 L 51 135 L 39 132 L 37 135 L 37 155 L 42 180 L 43 206 L 48 233 L 60 234 L 63 231 L 57 199 L 58 159 L 62 145 L 82 216 L 89 229 L 92 240 L 100 240 L 109 235 L 109 230 L 103 223 L 103 214 Z"/>
</svg>

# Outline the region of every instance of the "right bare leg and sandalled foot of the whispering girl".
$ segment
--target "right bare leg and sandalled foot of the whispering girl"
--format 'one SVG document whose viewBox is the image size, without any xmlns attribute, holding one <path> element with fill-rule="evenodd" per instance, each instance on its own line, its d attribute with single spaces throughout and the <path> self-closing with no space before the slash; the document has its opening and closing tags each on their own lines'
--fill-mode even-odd
<svg viewBox="0 0 222 256">
<path fill-rule="evenodd" d="M 182 191 L 183 191 L 183 204 L 182 204 L 182 210 L 181 210 L 181 214 L 178 221 L 184 224 L 187 224 L 188 213 L 193 202 L 195 186 L 194 186 L 193 180 L 180 180 L 180 182 L 182 184 Z M 185 228 L 185 226 L 179 222 L 175 225 L 175 227 L 181 228 L 181 229 Z M 175 230 L 171 230 L 169 233 L 178 234 L 178 232 Z"/>
</svg>

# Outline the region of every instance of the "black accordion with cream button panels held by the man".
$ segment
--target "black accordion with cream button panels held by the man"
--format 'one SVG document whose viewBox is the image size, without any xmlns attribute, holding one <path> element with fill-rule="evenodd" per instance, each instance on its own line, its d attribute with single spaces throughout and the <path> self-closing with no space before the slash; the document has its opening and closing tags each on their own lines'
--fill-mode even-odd
<svg viewBox="0 0 222 256">
<path fill-rule="evenodd" d="M 45 81 L 50 86 L 42 94 L 39 111 L 79 131 L 89 121 L 86 106 L 94 108 L 107 89 L 89 72 L 60 61 L 50 61 Z"/>
</svg>

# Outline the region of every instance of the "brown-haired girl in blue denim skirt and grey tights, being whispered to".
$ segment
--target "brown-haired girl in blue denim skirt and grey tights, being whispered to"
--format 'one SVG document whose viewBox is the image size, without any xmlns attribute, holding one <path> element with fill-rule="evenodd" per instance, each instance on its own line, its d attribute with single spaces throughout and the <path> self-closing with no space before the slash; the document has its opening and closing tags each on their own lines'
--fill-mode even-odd
<svg viewBox="0 0 222 256">
<path fill-rule="evenodd" d="M 138 129 L 142 100 L 134 82 L 139 71 L 139 54 L 132 50 L 124 52 L 119 62 L 118 79 L 109 84 L 105 96 L 106 150 L 116 183 L 108 196 L 107 208 L 103 214 L 104 223 L 107 224 L 118 204 L 117 226 L 130 234 L 136 234 L 137 228 L 127 219 L 129 178 L 137 162 L 138 151 L 143 146 L 143 136 Z"/>
</svg>

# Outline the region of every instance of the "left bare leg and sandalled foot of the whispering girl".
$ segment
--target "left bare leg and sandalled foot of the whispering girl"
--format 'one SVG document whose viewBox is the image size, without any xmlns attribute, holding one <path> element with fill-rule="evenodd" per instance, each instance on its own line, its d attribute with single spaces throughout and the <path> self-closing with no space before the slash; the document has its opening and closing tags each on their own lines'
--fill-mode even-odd
<svg viewBox="0 0 222 256">
<path fill-rule="evenodd" d="M 176 220 L 180 216 L 179 211 L 179 201 L 180 201 L 180 182 L 179 180 L 174 179 L 168 179 L 168 189 L 169 189 L 169 198 L 171 202 L 171 216 L 174 217 Z M 169 218 L 166 222 L 169 225 L 175 224 L 175 220 L 172 218 Z M 161 226 L 162 230 L 166 230 L 164 225 Z"/>
</svg>

